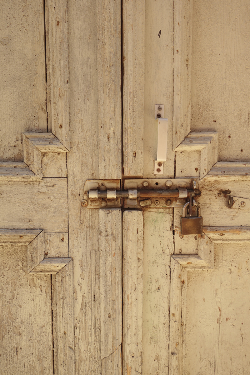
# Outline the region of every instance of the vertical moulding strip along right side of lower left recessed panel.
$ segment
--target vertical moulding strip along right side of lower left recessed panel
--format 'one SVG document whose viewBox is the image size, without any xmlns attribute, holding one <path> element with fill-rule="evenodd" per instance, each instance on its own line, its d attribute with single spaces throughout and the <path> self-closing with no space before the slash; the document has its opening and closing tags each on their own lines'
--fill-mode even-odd
<svg viewBox="0 0 250 375">
<path fill-rule="evenodd" d="M 73 261 L 52 275 L 55 375 L 75 374 Z"/>
</svg>

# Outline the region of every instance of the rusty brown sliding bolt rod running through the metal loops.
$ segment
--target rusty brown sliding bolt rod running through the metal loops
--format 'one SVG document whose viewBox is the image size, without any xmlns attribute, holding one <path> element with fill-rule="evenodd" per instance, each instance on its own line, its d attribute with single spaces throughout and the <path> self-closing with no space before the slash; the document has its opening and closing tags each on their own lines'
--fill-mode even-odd
<svg viewBox="0 0 250 375">
<path fill-rule="evenodd" d="M 116 190 L 116 198 L 129 198 L 128 190 Z M 97 191 L 98 198 L 107 198 L 106 190 Z M 171 198 L 179 196 L 179 190 L 137 190 L 137 198 L 153 198 L 162 196 L 163 198 Z M 187 196 L 195 196 L 194 190 L 187 190 Z"/>
</svg>

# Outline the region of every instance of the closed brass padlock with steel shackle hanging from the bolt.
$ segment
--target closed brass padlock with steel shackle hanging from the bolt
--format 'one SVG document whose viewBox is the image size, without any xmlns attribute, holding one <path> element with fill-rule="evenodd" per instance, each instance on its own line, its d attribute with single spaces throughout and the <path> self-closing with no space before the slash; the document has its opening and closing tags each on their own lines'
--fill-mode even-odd
<svg viewBox="0 0 250 375">
<path fill-rule="evenodd" d="M 181 217 L 181 234 L 202 234 L 202 217 L 201 208 L 198 203 L 193 201 L 193 205 L 197 208 L 198 216 L 188 216 L 186 217 L 186 210 L 189 206 L 187 202 L 183 207 L 182 217 Z M 191 213 L 189 212 L 189 215 Z"/>
</svg>

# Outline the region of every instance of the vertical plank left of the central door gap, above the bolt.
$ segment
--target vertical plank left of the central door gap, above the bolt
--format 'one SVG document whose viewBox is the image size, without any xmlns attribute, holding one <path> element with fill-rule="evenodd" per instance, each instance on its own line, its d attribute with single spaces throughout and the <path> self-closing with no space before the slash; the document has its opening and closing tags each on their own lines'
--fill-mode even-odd
<svg viewBox="0 0 250 375">
<path fill-rule="evenodd" d="M 121 2 L 96 1 L 99 178 L 121 178 Z M 91 67 L 93 69 L 93 67 Z"/>
</svg>

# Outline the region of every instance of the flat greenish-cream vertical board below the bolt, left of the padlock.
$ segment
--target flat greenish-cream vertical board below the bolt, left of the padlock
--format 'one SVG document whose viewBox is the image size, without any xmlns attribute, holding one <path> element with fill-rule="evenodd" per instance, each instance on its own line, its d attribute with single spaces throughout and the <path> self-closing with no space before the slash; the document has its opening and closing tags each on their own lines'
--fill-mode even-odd
<svg viewBox="0 0 250 375">
<path fill-rule="evenodd" d="M 172 209 L 148 208 L 143 217 L 142 374 L 168 374 Z"/>
</svg>

